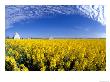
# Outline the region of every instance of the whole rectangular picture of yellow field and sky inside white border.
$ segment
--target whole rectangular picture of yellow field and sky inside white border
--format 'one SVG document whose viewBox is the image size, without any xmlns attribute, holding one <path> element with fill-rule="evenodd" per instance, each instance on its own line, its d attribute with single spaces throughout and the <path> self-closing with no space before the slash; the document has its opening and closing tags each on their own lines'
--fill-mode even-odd
<svg viewBox="0 0 110 82">
<path fill-rule="evenodd" d="M 106 71 L 104 5 L 6 5 L 5 71 Z"/>
</svg>

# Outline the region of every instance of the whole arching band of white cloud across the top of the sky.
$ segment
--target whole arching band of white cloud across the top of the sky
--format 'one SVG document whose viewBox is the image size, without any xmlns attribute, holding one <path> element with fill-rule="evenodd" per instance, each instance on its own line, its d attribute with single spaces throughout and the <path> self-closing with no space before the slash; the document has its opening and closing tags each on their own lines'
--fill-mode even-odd
<svg viewBox="0 0 110 82">
<path fill-rule="evenodd" d="M 6 29 L 15 22 L 40 18 L 49 14 L 81 14 L 105 25 L 104 6 L 101 5 L 37 5 L 6 6 Z"/>
</svg>

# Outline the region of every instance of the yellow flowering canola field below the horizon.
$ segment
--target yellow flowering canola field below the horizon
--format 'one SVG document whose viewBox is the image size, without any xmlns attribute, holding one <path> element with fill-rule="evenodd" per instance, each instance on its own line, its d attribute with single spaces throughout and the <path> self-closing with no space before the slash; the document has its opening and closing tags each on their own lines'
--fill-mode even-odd
<svg viewBox="0 0 110 82">
<path fill-rule="evenodd" d="M 105 71 L 105 39 L 6 39 L 6 71 Z"/>
</svg>

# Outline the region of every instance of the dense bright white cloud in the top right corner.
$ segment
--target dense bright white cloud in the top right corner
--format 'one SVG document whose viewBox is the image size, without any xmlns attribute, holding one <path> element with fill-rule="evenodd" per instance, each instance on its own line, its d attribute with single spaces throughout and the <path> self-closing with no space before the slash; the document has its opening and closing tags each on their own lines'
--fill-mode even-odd
<svg viewBox="0 0 110 82">
<path fill-rule="evenodd" d="M 101 5 L 83 5 L 77 6 L 77 8 L 85 14 L 85 16 L 92 18 L 105 25 L 104 6 Z"/>
</svg>

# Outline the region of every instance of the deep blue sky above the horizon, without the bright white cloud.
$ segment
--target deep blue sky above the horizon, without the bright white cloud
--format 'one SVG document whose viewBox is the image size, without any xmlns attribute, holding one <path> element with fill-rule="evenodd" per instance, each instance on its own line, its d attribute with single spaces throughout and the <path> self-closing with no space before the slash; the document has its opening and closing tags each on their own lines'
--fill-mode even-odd
<svg viewBox="0 0 110 82">
<path fill-rule="evenodd" d="M 57 6 L 55 12 L 46 7 L 35 6 L 21 11 L 23 7 L 6 6 L 6 36 L 12 37 L 15 32 L 18 32 L 21 37 L 63 37 L 63 38 L 103 38 L 106 34 L 106 27 L 102 22 L 94 20 L 94 16 L 89 17 L 87 14 L 78 11 L 75 6 L 65 6 L 61 8 Z M 34 9 L 38 10 L 34 10 Z M 41 12 L 41 10 L 43 12 Z M 41 10 L 40 10 L 41 9 Z M 68 10 L 67 10 L 68 9 Z M 71 9 L 74 9 L 70 12 Z M 30 11 L 34 10 L 34 12 Z M 40 12 L 39 14 L 34 14 Z M 45 11 L 45 12 L 44 12 Z M 49 13 L 50 12 L 50 13 Z M 69 14 L 68 14 L 69 12 Z M 11 13 L 11 14 L 10 14 Z M 23 13 L 23 15 L 21 15 Z M 25 13 L 25 15 L 24 15 Z M 13 20 L 11 21 L 11 18 Z M 10 19 L 10 20 L 9 20 Z M 7 23 L 7 20 L 8 23 Z M 11 21 L 11 22 L 10 22 Z"/>
</svg>

